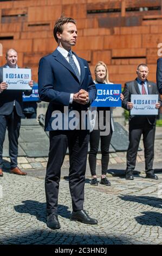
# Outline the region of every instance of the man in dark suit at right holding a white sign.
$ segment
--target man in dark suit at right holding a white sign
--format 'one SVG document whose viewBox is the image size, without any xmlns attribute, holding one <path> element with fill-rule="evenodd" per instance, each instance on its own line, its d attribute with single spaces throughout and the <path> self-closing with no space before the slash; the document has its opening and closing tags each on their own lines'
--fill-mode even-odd
<svg viewBox="0 0 162 256">
<path fill-rule="evenodd" d="M 157 84 L 147 80 L 148 66 L 140 64 L 137 67 L 137 78 L 134 81 L 127 82 L 124 89 L 124 100 L 122 107 L 127 110 L 133 108 L 131 102 L 132 94 L 158 94 Z M 156 103 L 155 107 L 160 108 L 161 101 Z M 143 135 L 144 149 L 145 149 L 145 171 L 146 178 L 158 179 L 153 170 L 154 158 L 154 136 L 156 115 L 129 115 L 129 146 L 127 150 L 127 168 L 126 179 L 133 180 L 133 170 L 137 158 L 139 142 L 141 135 Z"/>
</svg>

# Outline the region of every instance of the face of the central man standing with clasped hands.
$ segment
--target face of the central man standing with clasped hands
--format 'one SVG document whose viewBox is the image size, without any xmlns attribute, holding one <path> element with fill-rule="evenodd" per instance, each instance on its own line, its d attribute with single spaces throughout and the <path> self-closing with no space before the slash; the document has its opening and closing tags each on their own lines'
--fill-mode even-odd
<svg viewBox="0 0 162 256">
<path fill-rule="evenodd" d="M 69 22 L 62 26 L 62 33 L 57 32 L 57 37 L 60 39 L 60 46 L 69 50 L 76 44 L 77 29 L 74 23 Z"/>
</svg>

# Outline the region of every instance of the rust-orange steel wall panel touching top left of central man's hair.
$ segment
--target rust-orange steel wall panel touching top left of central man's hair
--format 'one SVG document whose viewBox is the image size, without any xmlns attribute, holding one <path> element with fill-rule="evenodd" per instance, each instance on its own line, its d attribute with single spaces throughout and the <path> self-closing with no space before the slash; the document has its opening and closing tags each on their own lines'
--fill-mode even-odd
<svg viewBox="0 0 162 256">
<path fill-rule="evenodd" d="M 28 22 L 30 21 L 54 21 L 61 16 L 61 5 L 29 7 Z"/>
</svg>

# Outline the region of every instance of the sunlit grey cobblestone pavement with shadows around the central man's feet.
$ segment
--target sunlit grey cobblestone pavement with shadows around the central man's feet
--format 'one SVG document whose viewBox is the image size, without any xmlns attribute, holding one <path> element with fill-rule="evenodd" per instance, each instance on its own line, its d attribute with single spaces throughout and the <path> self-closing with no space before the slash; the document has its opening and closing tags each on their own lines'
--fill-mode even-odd
<svg viewBox="0 0 162 256">
<path fill-rule="evenodd" d="M 1 178 L 0 245 L 162 244 L 162 173 L 159 180 L 136 176 L 111 178 L 111 186 L 93 187 L 86 180 L 85 210 L 98 225 L 69 220 L 68 181 L 61 179 L 61 229 L 46 226 L 44 180 L 4 173 Z M 3 192 L 3 194 L 2 194 Z"/>
</svg>

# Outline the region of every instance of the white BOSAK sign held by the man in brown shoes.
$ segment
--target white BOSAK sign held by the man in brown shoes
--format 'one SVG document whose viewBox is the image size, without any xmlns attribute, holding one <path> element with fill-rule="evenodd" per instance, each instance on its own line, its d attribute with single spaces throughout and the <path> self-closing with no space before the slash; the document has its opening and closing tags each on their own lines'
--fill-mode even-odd
<svg viewBox="0 0 162 256">
<path fill-rule="evenodd" d="M 31 90 L 31 69 L 3 68 L 3 82 L 8 83 L 8 90 Z"/>
</svg>

